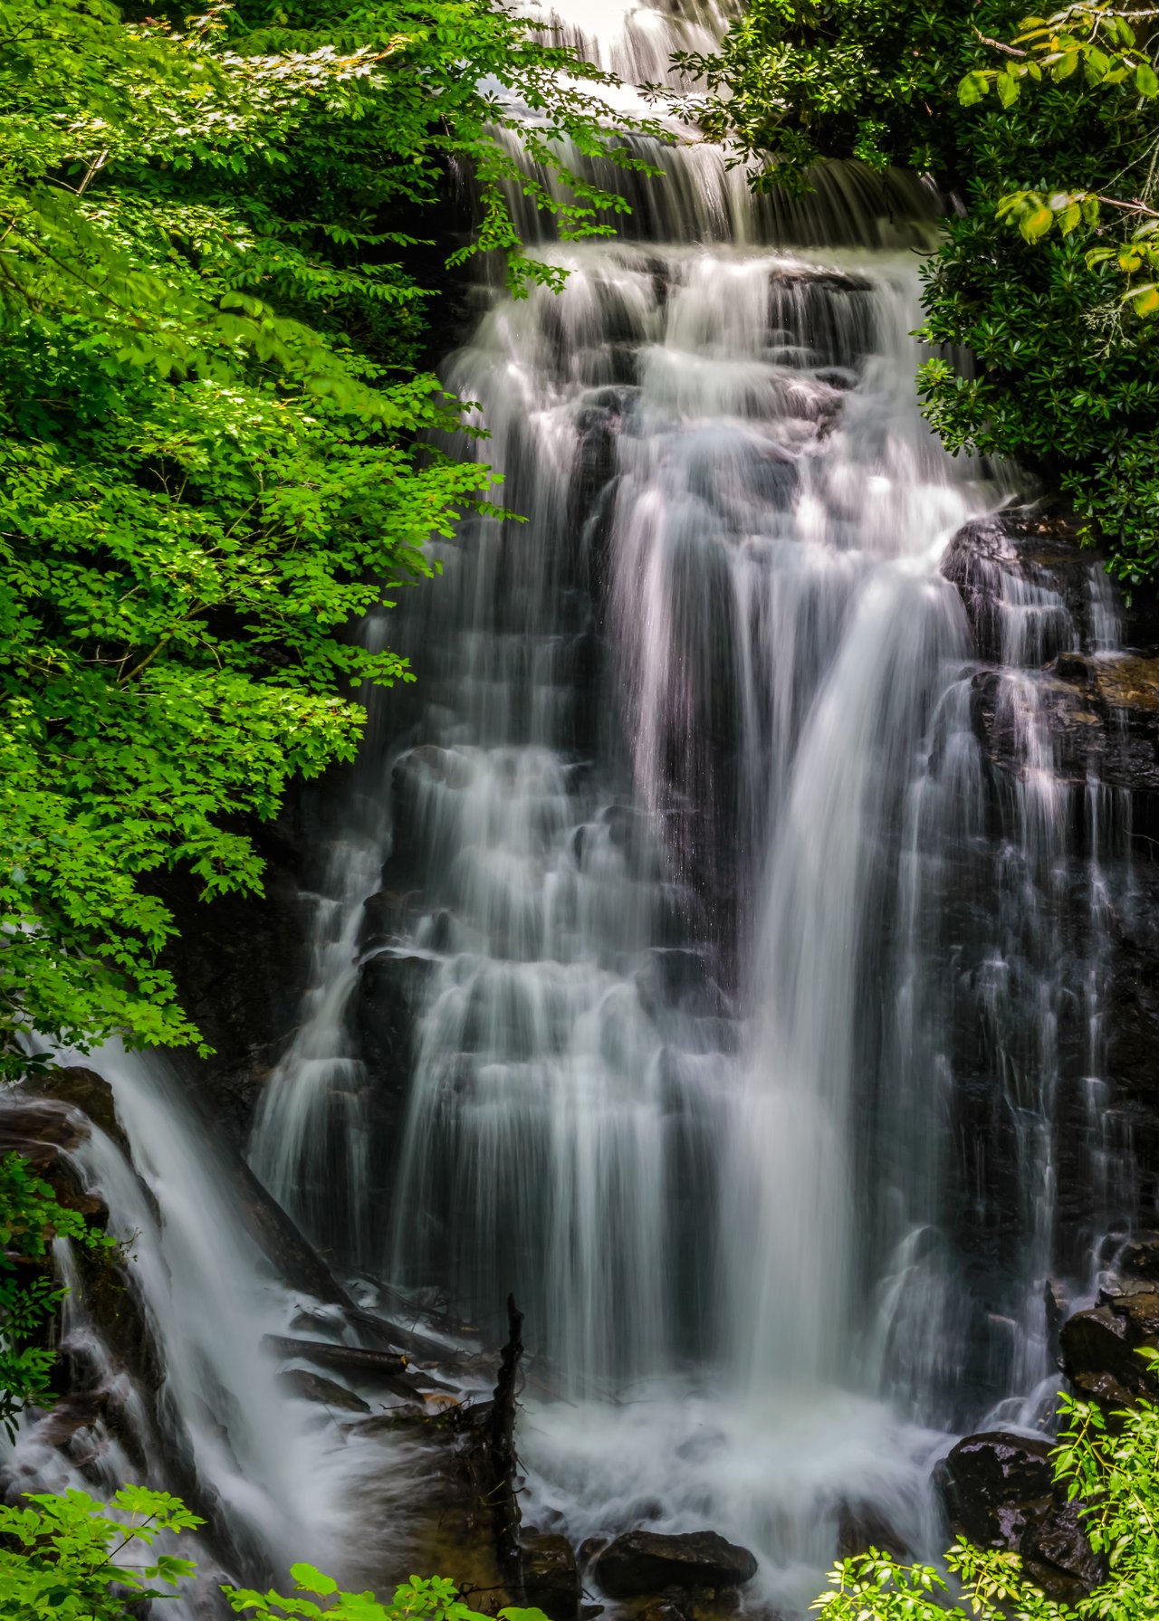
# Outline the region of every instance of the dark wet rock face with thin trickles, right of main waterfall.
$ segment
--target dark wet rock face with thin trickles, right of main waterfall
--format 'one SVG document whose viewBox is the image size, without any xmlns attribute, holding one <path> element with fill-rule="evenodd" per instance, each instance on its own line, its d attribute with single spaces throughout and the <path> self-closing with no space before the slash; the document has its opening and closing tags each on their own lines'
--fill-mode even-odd
<svg viewBox="0 0 1159 1621">
<path fill-rule="evenodd" d="M 1078 545 L 1076 525 L 1042 506 L 966 524 L 942 574 L 976 655 L 961 668 L 955 712 L 968 726 L 955 738 L 969 759 L 974 820 L 969 838 L 945 851 L 945 916 L 927 947 L 953 984 L 961 1153 L 950 1203 L 964 1213 L 973 1190 L 986 1188 L 986 1227 L 964 1217 L 956 1238 L 979 1285 L 1016 1268 L 1021 1169 L 1003 1076 L 1052 1073 L 1052 1266 L 1080 1276 L 1091 1225 L 1106 1222 L 1091 1211 L 1091 1153 L 1136 1167 L 1138 1193 L 1123 1187 L 1112 1206 L 1138 1198 L 1148 1208 L 1159 1196 L 1159 614 L 1141 593 L 1127 606 L 1097 553 Z M 1011 869 L 1015 848 L 1028 854 Z M 1036 934 L 1034 905 L 1011 901 L 1008 882 L 1044 896 L 1052 940 Z M 1020 906 L 1016 930 L 992 927 Z M 986 948 L 973 948 L 987 929 Z M 1083 964 L 1089 1008 L 1086 992 L 1060 989 L 1058 964 Z"/>
</svg>

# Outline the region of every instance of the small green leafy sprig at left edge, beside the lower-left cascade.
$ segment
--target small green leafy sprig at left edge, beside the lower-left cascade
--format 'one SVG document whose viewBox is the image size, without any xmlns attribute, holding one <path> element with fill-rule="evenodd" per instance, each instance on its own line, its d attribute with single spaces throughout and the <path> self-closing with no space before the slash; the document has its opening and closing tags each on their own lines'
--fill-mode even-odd
<svg viewBox="0 0 1159 1621">
<path fill-rule="evenodd" d="M 10 1438 L 26 1404 L 49 1407 L 53 1401 L 49 1379 L 57 1358 L 41 1344 L 45 1323 L 65 1294 L 44 1269 L 53 1238 L 71 1238 L 97 1251 L 113 1248 L 110 1237 L 57 1201 L 26 1159 L 5 1154 L 0 1157 L 0 1425 Z"/>
</svg>

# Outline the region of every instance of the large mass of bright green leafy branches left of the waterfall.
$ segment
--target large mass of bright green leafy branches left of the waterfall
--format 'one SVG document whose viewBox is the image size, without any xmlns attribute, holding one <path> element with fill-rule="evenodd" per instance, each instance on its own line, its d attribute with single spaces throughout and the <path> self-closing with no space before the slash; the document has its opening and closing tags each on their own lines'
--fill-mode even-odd
<svg viewBox="0 0 1159 1621">
<path fill-rule="evenodd" d="M 470 169 L 455 256 L 551 282 L 509 199 L 613 229 L 561 159 L 640 167 L 606 78 L 499 0 L 0 0 L 0 1078 L 31 1031 L 198 1041 L 154 875 L 261 888 L 253 819 L 412 679 L 352 624 L 488 509 L 423 447 L 415 225 Z"/>
</svg>

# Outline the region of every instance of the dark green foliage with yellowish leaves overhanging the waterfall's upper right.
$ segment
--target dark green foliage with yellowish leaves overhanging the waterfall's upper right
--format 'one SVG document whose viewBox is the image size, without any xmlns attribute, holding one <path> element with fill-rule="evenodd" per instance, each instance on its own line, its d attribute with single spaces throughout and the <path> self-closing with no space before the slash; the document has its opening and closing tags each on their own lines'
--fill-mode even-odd
<svg viewBox="0 0 1159 1621">
<path fill-rule="evenodd" d="M 973 365 L 924 368 L 927 415 L 1062 488 L 1128 585 L 1159 572 L 1157 37 L 1102 0 L 1021 24 L 1007 0 L 752 0 L 689 62 L 759 185 L 857 156 L 955 195 L 926 337 Z"/>
</svg>

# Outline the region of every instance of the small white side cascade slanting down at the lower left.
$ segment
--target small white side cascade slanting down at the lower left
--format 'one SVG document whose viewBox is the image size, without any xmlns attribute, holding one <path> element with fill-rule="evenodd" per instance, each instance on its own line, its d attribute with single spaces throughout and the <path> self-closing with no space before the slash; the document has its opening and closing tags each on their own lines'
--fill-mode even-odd
<svg viewBox="0 0 1159 1621">
<path fill-rule="evenodd" d="M 425 1503 L 421 1448 L 360 1431 L 344 1412 L 287 1392 L 277 1370 L 308 1365 L 271 1357 L 264 1337 L 302 1334 L 303 1315 L 311 1315 L 306 1337 L 327 1337 L 316 1324 L 329 1315 L 340 1341 L 340 1318 L 287 1284 L 246 1232 L 227 1162 L 164 1063 L 105 1047 L 101 1070 L 130 1154 L 92 1127 L 70 1159 L 125 1243 L 122 1334 L 154 1371 L 144 1384 L 126 1375 L 104 1337 L 109 1305 L 94 1315 L 62 1247 L 70 1289 L 62 1350 L 76 1358 L 76 1386 L 96 1409 L 70 1438 L 68 1407 L 60 1420 L 26 1420 L 16 1444 L 3 1448 L 6 1488 L 76 1486 L 109 1498 L 141 1480 L 180 1493 L 211 1522 L 175 1545 L 199 1574 L 165 1610 L 191 1621 L 229 1613 L 219 1582 L 285 1585 L 302 1558 L 339 1568 L 350 1582 L 394 1571 Z"/>
</svg>

